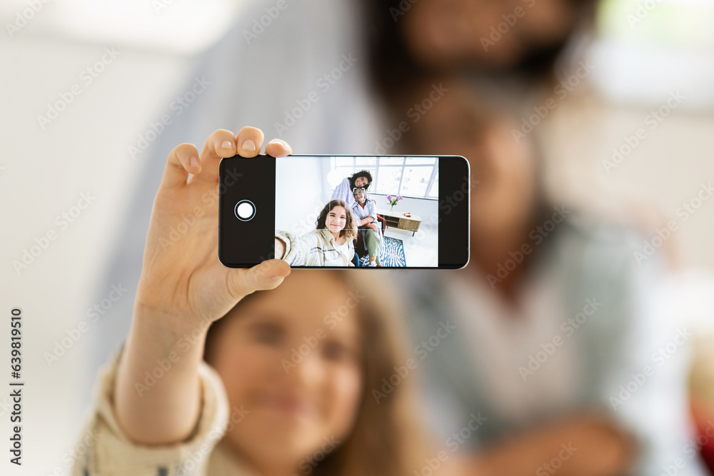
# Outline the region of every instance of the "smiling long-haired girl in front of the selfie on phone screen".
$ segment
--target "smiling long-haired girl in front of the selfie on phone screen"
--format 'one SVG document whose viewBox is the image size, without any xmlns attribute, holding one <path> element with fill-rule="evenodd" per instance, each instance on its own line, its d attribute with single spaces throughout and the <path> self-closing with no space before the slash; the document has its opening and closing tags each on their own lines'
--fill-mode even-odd
<svg viewBox="0 0 714 476">
<path fill-rule="evenodd" d="M 353 266 L 357 227 L 347 203 L 331 200 L 317 219 L 317 228 L 303 236 L 275 233 L 275 257 L 291 266 Z"/>
</svg>

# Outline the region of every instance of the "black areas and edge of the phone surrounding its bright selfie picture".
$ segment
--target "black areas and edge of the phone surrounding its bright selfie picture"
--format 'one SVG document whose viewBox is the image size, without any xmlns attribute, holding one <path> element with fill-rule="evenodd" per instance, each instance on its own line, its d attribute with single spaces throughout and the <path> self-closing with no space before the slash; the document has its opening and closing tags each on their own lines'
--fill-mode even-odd
<svg viewBox="0 0 714 476">
<path fill-rule="evenodd" d="M 374 157 L 368 155 L 296 154 L 289 157 Z M 386 155 L 379 157 L 437 157 L 439 167 L 438 267 L 369 267 L 364 269 L 459 269 L 469 259 L 471 173 L 463 156 Z M 274 257 L 276 159 L 258 155 L 221 159 L 218 181 L 218 260 L 226 268 L 251 268 Z M 262 178 L 273 178 L 264 180 Z M 239 188 L 234 188 L 238 186 Z M 234 212 L 237 201 L 251 199 L 256 215 L 239 221 Z M 273 213 L 261 213 L 273 210 Z M 231 246 L 240 236 L 241 248 Z M 448 239 L 444 239 L 448 237 Z M 253 250 L 247 252 L 246 250 Z M 297 269 L 345 269 L 344 266 L 294 266 Z M 349 267 L 351 268 L 351 267 Z M 354 269 L 362 269 L 357 267 Z"/>
</svg>

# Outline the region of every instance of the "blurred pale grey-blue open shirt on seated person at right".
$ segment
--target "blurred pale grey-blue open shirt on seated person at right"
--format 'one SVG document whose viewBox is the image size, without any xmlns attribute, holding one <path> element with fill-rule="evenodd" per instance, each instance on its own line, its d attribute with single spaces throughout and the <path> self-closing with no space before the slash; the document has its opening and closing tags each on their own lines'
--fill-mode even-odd
<svg viewBox="0 0 714 476">
<path fill-rule="evenodd" d="M 686 390 L 688 350 L 678 348 L 661 366 L 653 357 L 683 332 L 678 330 L 678 316 L 668 315 L 656 304 L 656 285 L 662 283 L 665 273 L 663 263 L 655 256 L 638 265 L 633 250 L 642 243 L 640 236 L 583 218 L 569 218 L 559 225 L 552 240 L 540 245 L 543 249 L 538 250 L 531 276 L 540 280 L 546 269 L 553 272 L 553 290 L 569 317 L 580 313 L 588 298 L 601 303 L 597 313 L 570 337 L 578 349 L 572 362 L 578 378 L 568 380 L 572 387 L 568 397 L 550 398 L 521 422 L 504 418 L 501 402 L 488 391 L 492 377 L 470 364 L 472 355 L 481 353 L 486 359 L 486 352 L 474 349 L 466 331 L 459 330 L 440 345 L 429 347 L 428 353 L 421 348 L 419 370 L 424 375 L 420 395 L 427 408 L 438 409 L 431 414 L 433 427 L 442 441 L 453 442 L 448 438 L 470 417 L 486 417 L 465 440 L 463 448 L 473 449 L 515 435 L 533 422 L 600 410 L 638 442 L 640 451 L 628 475 L 658 475 L 681 458 L 686 464 L 678 476 L 702 476 L 705 472 L 698 457 L 684 451 L 693 431 Z M 462 311 L 446 290 L 449 280 L 443 279 L 443 274 L 401 273 L 395 282 L 408 298 L 407 328 L 413 342 L 428 339 L 442 323 L 459 322 L 454 316 Z M 461 322 L 483 318 L 478 310 L 461 317 Z M 560 330 L 554 335 L 560 335 Z M 542 349 L 543 342 L 532 344 L 533 353 Z M 548 364 L 552 362 L 541 365 Z M 645 365 L 654 370 L 640 385 L 634 379 L 641 381 L 638 374 L 643 374 Z M 518 372 L 514 366 L 511 375 L 503 378 L 515 375 L 518 380 Z M 535 373 L 528 379 L 544 376 Z"/>
</svg>

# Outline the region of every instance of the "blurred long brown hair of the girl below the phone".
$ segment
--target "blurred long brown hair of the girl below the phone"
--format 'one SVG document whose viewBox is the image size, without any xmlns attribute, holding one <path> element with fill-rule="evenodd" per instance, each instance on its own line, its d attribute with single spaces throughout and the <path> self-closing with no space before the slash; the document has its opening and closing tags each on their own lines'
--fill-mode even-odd
<svg viewBox="0 0 714 476">
<path fill-rule="evenodd" d="M 345 295 L 353 292 L 364 296 L 355 308 L 360 328 L 363 390 L 351 431 L 323 460 L 311 461 L 304 475 L 412 476 L 438 448 L 431 446 L 433 442 L 421 421 L 422 412 L 414 393 L 417 375 L 407 375 L 390 392 L 383 393 L 384 382 L 393 378 L 395 368 L 405 365 L 409 357 L 403 304 L 395 302 L 389 283 L 377 273 L 310 270 L 301 272 L 301 278 L 309 279 L 309 273 L 331 273 L 343 285 Z M 211 324 L 204 350 L 206 362 L 210 364 L 215 358 L 221 325 L 227 319 L 238 318 L 246 301 L 270 298 L 270 292 L 247 295 L 226 317 Z"/>
</svg>

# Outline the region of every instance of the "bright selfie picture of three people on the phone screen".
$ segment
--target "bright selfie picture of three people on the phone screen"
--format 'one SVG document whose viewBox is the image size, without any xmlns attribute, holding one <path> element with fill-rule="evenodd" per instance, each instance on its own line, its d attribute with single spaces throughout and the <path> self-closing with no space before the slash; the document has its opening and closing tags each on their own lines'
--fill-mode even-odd
<svg viewBox="0 0 714 476">
<path fill-rule="evenodd" d="M 438 166 L 424 156 L 276 158 L 276 258 L 437 268 Z"/>
</svg>

